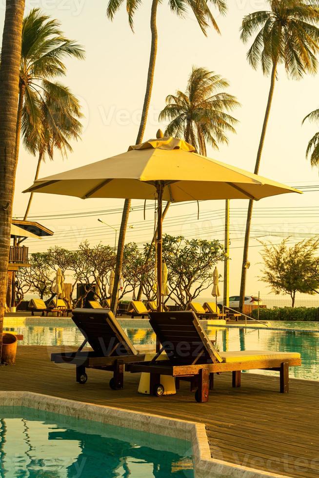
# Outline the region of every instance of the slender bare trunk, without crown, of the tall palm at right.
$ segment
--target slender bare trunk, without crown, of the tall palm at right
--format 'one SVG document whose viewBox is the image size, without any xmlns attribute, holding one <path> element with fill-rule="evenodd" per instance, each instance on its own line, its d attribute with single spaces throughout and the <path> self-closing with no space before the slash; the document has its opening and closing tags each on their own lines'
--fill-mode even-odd
<svg viewBox="0 0 319 478">
<path fill-rule="evenodd" d="M 255 174 L 258 174 L 259 172 L 260 159 L 261 159 L 262 149 L 263 149 L 263 145 L 265 141 L 266 130 L 267 130 L 268 120 L 270 116 L 270 109 L 271 109 L 271 104 L 272 104 L 274 90 L 275 90 L 277 64 L 278 64 L 278 60 L 275 60 L 273 63 L 273 68 L 271 72 L 270 89 L 269 89 L 267 107 L 266 107 L 265 117 L 263 120 L 261 136 L 259 141 L 259 148 L 258 148 L 255 170 L 254 170 Z M 242 266 L 241 266 L 240 299 L 239 299 L 239 309 L 241 311 L 242 311 L 242 306 L 245 302 L 246 273 L 247 273 L 246 262 L 248 260 L 249 236 L 250 236 L 251 219 L 253 215 L 253 207 L 254 207 L 254 201 L 250 199 L 249 205 L 248 205 L 248 211 L 247 211 L 245 242 L 244 242 L 244 250 L 243 250 L 243 257 L 242 257 Z"/>
</svg>

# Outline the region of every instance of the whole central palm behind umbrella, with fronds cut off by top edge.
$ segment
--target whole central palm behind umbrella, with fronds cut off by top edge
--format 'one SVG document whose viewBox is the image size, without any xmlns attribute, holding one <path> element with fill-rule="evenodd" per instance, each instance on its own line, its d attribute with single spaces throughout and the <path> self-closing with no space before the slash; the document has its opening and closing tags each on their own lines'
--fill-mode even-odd
<svg viewBox="0 0 319 478">
<path fill-rule="evenodd" d="M 225 14 L 226 12 L 226 0 L 210 0 L 212 5 L 215 6 L 221 14 Z M 216 20 L 214 19 L 208 5 L 208 0 L 179 0 L 179 1 L 169 1 L 169 7 L 173 13 L 178 15 L 179 17 L 184 17 L 187 10 L 191 9 L 195 15 L 196 20 L 199 23 L 199 27 L 201 31 L 206 35 L 206 30 L 208 28 L 209 22 L 213 25 L 214 29 L 219 33 L 219 28 L 217 25 Z M 120 6 L 123 4 L 123 0 L 109 0 L 107 6 L 107 16 L 113 20 L 114 15 L 120 9 Z M 131 29 L 133 30 L 133 19 L 136 10 L 140 5 L 140 1 L 136 0 L 127 0 L 126 2 L 126 10 L 128 14 L 128 21 Z M 158 31 L 157 31 L 157 8 L 159 5 L 159 0 L 152 0 L 151 6 L 151 19 L 150 19 L 150 27 L 151 27 L 151 51 L 150 51 L 150 59 L 149 59 L 149 66 L 148 66 L 148 73 L 147 73 L 147 81 L 146 81 L 146 90 L 145 90 L 145 97 L 143 102 L 143 109 L 142 115 L 140 120 L 140 128 L 138 132 L 138 136 L 136 139 L 136 144 L 142 142 L 146 120 L 149 110 L 149 105 L 151 101 L 152 95 L 152 88 L 153 88 L 153 80 L 154 80 L 154 71 L 155 71 L 155 63 L 156 63 L 156 55 L 157 55 L 157 47 L 158 47 Z M 113 287 L 113 296 L 112 296 L 112 303 L 111 308 L 114 311 L 116 308 L 117 303 L 117 291 L 119 289 L 120 283 L 120 271 L 122 269 L 122 262 L 123 262 L 123 253 L 124 253 L 124 242 L 125 242 L 125 233 L 127 228 L 128 216 L 131 208 L 131 200 L 125 199 L 121 225 L 120 225 L 120 234 L 119 234 L 119 241 L 118 241 L 118 251 L 117 251 L 117 260 L 116 260 L 116 270 L 115 270 L 115 279 L 114 279 L 114 287 Z"/>
</svg>

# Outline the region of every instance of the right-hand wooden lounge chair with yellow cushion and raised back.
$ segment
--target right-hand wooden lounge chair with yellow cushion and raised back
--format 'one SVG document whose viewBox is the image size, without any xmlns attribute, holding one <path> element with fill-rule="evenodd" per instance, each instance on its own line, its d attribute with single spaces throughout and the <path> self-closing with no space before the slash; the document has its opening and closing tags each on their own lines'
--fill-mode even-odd
<svg viewBox="0 0 319 478">
<path fill-rule="evenodd" d="M 130 372 L 150 373 L 151 395 L 164 392 L 160 375 L 194 379 L 198 383 L 195 398 L 206 402 L 213 388 L 214 375 L 232 372 L 233 387 L 240 387 L 242 370 L 273 370 L 280 374 L 280 393 L 288 393 L 289 367 L 301 365 L 300 354 L 273 351 L 218 352 L 193 312 L 151 312 L 150 324 L 161 343 L 154 359 L 131 364 Z M 159 360 L 166 352 L 168 360 Z M 177 383 L 178 384 L 178 383 Z"/>
</svg>

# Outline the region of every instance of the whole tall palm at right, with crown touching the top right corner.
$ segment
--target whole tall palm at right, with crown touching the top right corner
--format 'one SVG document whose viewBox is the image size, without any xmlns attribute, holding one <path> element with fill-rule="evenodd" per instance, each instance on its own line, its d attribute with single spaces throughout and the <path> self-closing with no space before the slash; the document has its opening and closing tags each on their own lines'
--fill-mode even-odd
<svg viewBox="0 0 319 478">
<path fill-rule="evenodd" d="M 257 33 L 248 50 L 247 60 L 255 69 L 261 64 L 264 75 L 270 74 L 270 89 L 254 171 L 256 174 L 259 172 L 279 65 L 284 65 L 288 76 L 299 80 L 305 73 L 315 73 L 318 63 L 315 56 L 319 48 L 318 2 L 268 0 L 268 3 L 269 11 L 254 12 L 244 17 L 240 34 L 241 40 L 246 43 L 252 35 Z M 248 259 L 253 204 L 253 200 L 250 200 L 241 269 L 240 308 L 243 306 L 245 297 L 247 271 L 245 266 Z"/>
</svg>

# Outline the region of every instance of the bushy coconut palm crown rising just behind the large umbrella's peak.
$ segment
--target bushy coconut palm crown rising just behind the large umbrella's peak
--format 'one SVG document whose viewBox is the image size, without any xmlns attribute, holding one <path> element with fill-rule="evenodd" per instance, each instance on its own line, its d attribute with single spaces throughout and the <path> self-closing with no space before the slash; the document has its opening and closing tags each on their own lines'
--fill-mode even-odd
<svg viewBox="0 0 319 478">
<path fill-rule="evenodd" d="M 168 95 L 159 120 L 170 120 L 165 136 L 175 136 L 191 143 L 199 154 L 206 156 L 206 144 L 218 149 L 228 143 L 227 133 L 235 133 L 237 119 L 229 115 L 236 106 L 236 98 L 221 92 L 229 83 L 206 68 L 193 67 L 186 92 Z"/>
</svg>

